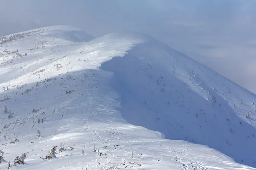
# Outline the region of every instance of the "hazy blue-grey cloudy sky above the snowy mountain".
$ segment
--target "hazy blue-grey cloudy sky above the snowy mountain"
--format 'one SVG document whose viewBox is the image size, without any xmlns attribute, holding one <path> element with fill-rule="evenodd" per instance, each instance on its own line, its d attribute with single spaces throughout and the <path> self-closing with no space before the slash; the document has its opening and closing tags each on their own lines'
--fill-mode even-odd
<svg viewBox="0 0 256 170">
<path fill-rule="evenodd" d="M 256 0 L 0 0 L 0 35 L 66 24 L 151 35 L 256 93 Z"/>
</svg>

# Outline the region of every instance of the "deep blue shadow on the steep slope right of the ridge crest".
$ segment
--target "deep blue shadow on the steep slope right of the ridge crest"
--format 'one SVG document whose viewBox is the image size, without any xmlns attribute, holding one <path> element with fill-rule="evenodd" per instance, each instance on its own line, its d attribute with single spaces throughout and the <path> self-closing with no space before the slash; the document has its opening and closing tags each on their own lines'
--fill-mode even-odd
<svg viewBox="0 0 256 170">
<path fill-rule="evenodd" d="M 100 67 L 114 73 L 112 86 L 121 95 L 119 111 L 124 119 L 159 131 L 166 139 L 208 145 L 241 164 L 256 167 L 255 128 L 238 117 L 214 90 L 202 83 L 216 102 L 204 99 L 162 67 L 157 62 L 160 56 L 148 59 L 154 51 L 143 48 L 136 46 L 124 57 L 113 57 Z"/>
</svg>

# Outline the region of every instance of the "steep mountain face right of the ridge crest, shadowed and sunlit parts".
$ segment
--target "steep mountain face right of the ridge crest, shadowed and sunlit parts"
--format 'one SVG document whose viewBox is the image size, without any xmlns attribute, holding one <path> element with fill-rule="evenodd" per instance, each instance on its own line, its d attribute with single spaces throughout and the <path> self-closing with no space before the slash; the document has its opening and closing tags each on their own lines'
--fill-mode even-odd
<svg viewBox="0 0 256 170">
<path fill-rule="evenodd" d="M 114 72 L 129 123 L 254 165 L 255 94 L 154 40 L 100 68 Z"/>
</svg>

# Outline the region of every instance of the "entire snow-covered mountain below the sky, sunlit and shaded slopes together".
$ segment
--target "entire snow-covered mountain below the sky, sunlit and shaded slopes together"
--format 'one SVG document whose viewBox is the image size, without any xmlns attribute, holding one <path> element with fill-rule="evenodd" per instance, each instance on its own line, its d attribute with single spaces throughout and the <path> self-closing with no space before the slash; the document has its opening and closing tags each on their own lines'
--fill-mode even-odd
<svg viewBox="0 0 256 170">
<path fill-rule="evenodd" d="M 255 115 L 255 94 L 142 34 L 0 37 L 0 170 L 255 170 Z"/>
</svg>

